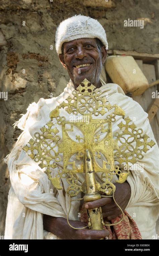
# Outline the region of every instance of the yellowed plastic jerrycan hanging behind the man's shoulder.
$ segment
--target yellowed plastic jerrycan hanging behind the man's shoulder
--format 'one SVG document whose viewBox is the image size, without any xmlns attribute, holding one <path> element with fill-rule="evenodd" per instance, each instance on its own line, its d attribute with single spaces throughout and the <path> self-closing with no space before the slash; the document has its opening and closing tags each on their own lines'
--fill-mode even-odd
<svg viewBox="0 0 159 256">
<path fill-rule="evenodd" d="M 113 55 L 107 58 L 105 69 L 113 83 L 129 96 L 142 94 L 149 83 L 132 56 Z"/>
</svg>

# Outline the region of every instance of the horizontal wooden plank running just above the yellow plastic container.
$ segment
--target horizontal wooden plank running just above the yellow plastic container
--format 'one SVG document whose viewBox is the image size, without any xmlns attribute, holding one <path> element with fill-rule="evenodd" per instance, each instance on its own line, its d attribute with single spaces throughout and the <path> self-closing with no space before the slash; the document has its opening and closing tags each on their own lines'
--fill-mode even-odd
<svg viewBox="0 0 159 256">
<path fill-rule="evenodd" d="M 156 59 L 159 59 L 159 54 L 155 53 L 140 53 L 136 51 L 123 51 L 123 50 L 108 50 L 108 55 L 130 55 L 133 56 L 134 59 L 140 59 L 143 60 L 144 63 L 150 63 L 152 61 L 155 61 Z"/>
</svg>

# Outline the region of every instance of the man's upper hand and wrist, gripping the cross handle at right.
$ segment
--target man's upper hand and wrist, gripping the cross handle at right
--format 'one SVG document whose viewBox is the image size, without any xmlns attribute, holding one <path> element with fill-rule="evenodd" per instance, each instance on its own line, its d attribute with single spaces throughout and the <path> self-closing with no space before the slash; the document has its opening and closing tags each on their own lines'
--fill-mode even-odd
<svg viewBox="0 0 159 256">
<path fill-rule="evenodd" d="M 114 183 L 114 185 L 116 186 L 114 193 L 115 201 L 124 211 L 131 195 L 130 186 L 127 182 Z M 102 208 L 103 219 L 105 220 L 109 221 L 121 214 L 121 210 L 115 204 L 113 198 L 105 197 L 85 204 L 86 209 L 93 209 L 99 206 Z"/>
</svg>

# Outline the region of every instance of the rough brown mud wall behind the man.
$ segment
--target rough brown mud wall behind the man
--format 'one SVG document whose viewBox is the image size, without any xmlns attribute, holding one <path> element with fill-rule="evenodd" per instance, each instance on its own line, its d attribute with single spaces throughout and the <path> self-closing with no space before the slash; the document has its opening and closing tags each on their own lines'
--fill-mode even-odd
<svg viewBox="0 0 159 256">
<path fill-rule="evenodd" d="M 100 21 L 109 49 L 157 53 L 157 0 L 94 1 L 1 0 L 0 6 L 0 235 L 4 235 L 9 174 L 2 159 L 11 151 L 19 129 L 13 123 L 32 102 L 58 96 L 69 81 L 55 51 L 57 25 L 75 14 Z M 97 2 L 97 1 L 95 1 Z M 92 5 L 92 6 L 91 6 Z M 145 18 L 144 29 L 126 28 L 125 19 Z"/>
</svg>

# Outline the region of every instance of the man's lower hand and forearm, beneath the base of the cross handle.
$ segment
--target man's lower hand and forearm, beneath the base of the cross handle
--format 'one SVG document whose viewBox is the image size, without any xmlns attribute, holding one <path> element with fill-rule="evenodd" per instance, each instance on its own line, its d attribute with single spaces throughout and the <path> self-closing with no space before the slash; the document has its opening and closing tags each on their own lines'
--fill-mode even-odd
<svg viewBox="0 0 159 256">
<path fill-rule="evenodd" d="M 87 223 L 69 220 L 70 224 L 74 227 L 81 228 L 87 226 Z M 67 219 L 62 217 L 52 217 L 49 215 L 43 216 L 44 229 L 53 233 L 61 239 L 100 239 L 109 237 L 107 230 L 91 230 L 88 228 L 76 230 L 70 227 Z"/>
</svg>

